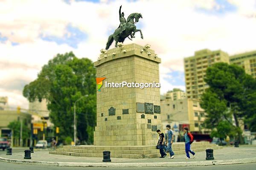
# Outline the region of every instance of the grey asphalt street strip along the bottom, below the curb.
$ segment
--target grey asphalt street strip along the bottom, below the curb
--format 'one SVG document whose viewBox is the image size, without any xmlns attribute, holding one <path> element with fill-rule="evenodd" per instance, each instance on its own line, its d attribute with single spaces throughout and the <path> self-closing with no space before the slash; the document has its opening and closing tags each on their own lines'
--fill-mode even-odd
<svg viewBox="0 0 256 170">
<path fill-rule="evenodd" d="M 256 163 L 251 164 L 232 164 L 232 165 L 212 165 L 197 167 L 127 167 L 127 168 L 108 168 L 108 167 L 55 167 L 29 164 L 13 164 L 0 162 L 0 170 L 255 170 Z"/>
</svg>

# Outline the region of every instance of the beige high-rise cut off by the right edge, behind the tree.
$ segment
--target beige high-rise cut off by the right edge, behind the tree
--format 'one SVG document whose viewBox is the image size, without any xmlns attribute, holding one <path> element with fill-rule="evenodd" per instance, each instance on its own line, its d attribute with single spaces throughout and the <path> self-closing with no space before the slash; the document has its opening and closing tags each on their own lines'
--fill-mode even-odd
<svg viewBox="0 0 256 170">
<path fill-rule="evenodd" d="M 256 78 L 256 51 L 230 56 L 230 64 L 241 66 L 248 75 Z"/>
</svg>

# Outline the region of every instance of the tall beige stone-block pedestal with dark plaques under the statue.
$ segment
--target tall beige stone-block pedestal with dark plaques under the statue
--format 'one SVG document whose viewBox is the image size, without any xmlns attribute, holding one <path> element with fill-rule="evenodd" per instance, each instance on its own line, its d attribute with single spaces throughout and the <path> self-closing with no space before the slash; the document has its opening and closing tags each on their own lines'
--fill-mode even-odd
<svg viewBox="0 0 256 170">
<path fill-rule="evenodd" d="M 156 145 L 161 129 L 159 66 L 154 50 L 129 44 L 102 51 L 94 63 L 97 78 L 105 78 L 97 90 L 95 146 Z M 106 87 L 107 83 L 151 83 L 151 87 Z M 153 85 L 154 84 L 154 85 Z"/>
</svg>

